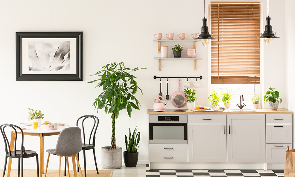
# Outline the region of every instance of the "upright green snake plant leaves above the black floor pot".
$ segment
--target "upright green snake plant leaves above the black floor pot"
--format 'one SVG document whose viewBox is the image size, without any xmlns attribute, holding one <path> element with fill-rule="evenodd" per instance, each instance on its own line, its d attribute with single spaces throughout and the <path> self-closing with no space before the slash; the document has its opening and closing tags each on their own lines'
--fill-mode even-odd
<svg viewBox="0 0 295 177">
<path fill-rule="evenodd" d="M 132 136 L 131 136 L 131 131 L 129 128 L 129 142 L 127 139 L 127 136 L 125 135 L 125 145 L 126 145 L 126 151 L 127 153 L 137 153 L 137 149 L 139 147 L 138 143 L 140 140 L 140 132 L 136 134 L 137 127 L 135 127 Z"/>
</svg>

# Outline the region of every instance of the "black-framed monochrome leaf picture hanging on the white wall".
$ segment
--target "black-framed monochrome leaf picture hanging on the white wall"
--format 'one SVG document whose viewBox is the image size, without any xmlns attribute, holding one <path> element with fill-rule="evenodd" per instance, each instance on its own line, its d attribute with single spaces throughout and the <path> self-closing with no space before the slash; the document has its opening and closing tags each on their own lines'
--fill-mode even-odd
<svg viewBox="0 0 295 177">
<path fill-rule="evenodd" d="M 83 32 L 16 32 L 16 80 L 82 81 Z"/>
</svg>

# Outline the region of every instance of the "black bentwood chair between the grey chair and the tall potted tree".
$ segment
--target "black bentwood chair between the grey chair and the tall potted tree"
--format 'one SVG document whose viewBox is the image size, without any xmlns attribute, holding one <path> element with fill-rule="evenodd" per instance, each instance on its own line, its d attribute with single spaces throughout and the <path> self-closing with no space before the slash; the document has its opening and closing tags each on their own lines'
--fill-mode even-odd
<svg viewBox="0 0 295 177">
<path fill-rule="evenodd" d="M 93 126 L 90 132 L 90 136 L 89 136 L 89 142 L 88 144 L 85 142 L 85 131 L 84 131 L 84 120 L 85 119 L 93 119 Z M 84 158 L 84 175 L 86 177 L 86 154 L 85 154 L 85 150 L 89 150 L 89 149 L 93 149 L 93 156 L 94 156 L 94 163 L 95 163 L 95 168 L 96 168 L 96 172 L 98 174 L 98 169 L 97 169 L 97 164 L 96 164 L 96 157 L 95 157 L 95 133 L 98 127 L 98 123 L 99 123 L 99 119 L 94 116 L 94 115 L 83 115 L 81 117 L 78 118 L 76 126 L 78 126 L 78 122 L 82 120 L 82 131 L 83 131 L 83 143 L 82 143 L 82 151 L 83 151 L 83 158 Z M 93 134 L 92 134 L 93 133 Z M 90 143 L 92 140 L 92 144 Z M 78 159 L 79 159 L 79 153 L 78 153 Z M 67 159 L 65 159 L 65 176 L 66 176 L 66 163 Z M 78 171 L 79 171 L 79 167 L 78 167 Z"/>
</svg>

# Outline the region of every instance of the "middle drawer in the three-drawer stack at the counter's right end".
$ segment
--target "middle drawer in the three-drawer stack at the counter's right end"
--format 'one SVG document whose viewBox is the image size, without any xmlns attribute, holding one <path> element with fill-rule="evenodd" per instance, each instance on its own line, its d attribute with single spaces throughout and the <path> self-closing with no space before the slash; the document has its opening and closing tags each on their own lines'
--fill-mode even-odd
<svg viewBox="0 0 295 177">
<path fill-rule="evenodd" d="M 292 143 L 291 124 L 266 124 L 266 143 Z"/>
</svg>

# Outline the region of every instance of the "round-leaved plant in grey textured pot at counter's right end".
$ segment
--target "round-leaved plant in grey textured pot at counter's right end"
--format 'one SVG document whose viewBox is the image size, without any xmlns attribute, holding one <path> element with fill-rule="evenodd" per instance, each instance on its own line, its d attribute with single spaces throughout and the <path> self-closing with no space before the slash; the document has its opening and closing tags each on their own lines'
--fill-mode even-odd
<svg viewBox="0 0 295 177">
<path fill-rule="evenodd" d="M 266 91 L 266 94 L 264 95 L 264 103 L 269 103 L 269 108 L 271 110 L 277 110 L 279 107 L 279 100 L 280 103 L 282 103 L 282 98 L 280 98 L 280 93 L 278 91 L 273 91 L 276 88 L 269 88 L 269 90 Z"/>
</svg>

